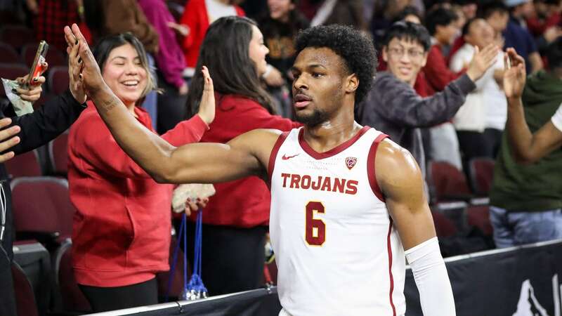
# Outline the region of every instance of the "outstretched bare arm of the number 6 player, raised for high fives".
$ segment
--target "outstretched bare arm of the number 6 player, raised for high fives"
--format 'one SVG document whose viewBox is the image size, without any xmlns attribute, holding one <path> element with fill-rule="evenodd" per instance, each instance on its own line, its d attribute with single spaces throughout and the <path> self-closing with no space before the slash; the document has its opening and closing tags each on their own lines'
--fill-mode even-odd
<svg viewBox="0 0 562 316">
<path fill-rule="evenodd" d="M 263 148 L 269 141 L 273 147 L 278 133 L 258 130 L 226 145 L 198 143 L 174 147 L 134 119 L 105 84 L 78 26 L 65 27 L 65 36 L 69 46 L 79 45 L 81 69 L 73 74 L 79 77 L 119 146 L 152 178 L 162 183 L 213 183 L 263 173 L 263 166 L 267 165 L 261 164 L 252 145 L 261 144 Z M 74 37 L 76 41 L 72 41 Z M 206 77 L 210 81 L 208 74 Z M 209 87 L 206 81 L 202 103 L 213 102 L 214 105 L 212 81 L 210 83 Z"/>
</svg>

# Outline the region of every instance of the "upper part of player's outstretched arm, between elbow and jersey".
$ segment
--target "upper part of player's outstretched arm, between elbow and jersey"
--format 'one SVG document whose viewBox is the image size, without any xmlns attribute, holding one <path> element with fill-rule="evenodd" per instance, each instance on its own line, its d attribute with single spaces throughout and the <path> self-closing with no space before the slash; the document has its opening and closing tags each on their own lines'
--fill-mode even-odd
<svg viewBox="0 0 562 316">
<path fill-rule="evenodd" d="M 280 131 L 256 129 L 226 144 L 195 143 L 171 151 L 169 166 L 159 182 L 217 183 L 262 176 Z"/>
</svg>

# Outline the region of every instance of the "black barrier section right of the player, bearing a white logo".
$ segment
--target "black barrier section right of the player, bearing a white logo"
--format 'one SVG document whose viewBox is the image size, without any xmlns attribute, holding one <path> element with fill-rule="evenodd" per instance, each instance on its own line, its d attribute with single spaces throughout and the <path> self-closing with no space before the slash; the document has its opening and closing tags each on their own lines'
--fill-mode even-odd
<svg viewBox="0 0 562 316">
<path fill-rule="evenodd" d="M 562 242 L 445 259 L 457 316 L 561 316 Z M 422 316 L 406 271 L 406 316 Z"/>
</svg>

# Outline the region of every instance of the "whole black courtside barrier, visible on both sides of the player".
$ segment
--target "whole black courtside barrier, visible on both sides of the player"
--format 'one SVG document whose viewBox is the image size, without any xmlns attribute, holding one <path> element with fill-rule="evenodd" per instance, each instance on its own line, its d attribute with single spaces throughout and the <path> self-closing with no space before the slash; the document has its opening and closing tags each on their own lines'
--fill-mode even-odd
<svg viewBox="0 0 562 316">
<path fill-rule="evenodd" d="M 445 264 L 457 316 L 562 316 L 562 241 L 457 256 L 445 259 Z M 422 316 L 410 269 L 406 270 L 405 296 L 406 316 Z M 103 315 L 277 316 L 280 309 L 273 287 Z"/>
</svg>

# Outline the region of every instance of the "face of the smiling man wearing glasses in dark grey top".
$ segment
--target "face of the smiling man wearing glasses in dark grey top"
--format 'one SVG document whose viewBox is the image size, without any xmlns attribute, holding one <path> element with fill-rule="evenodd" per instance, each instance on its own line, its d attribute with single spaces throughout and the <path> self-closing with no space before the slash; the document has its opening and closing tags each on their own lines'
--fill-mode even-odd
<svg viewBox="0 0 562 316">
<path fill-rule="evenodd" d="M 394 77 L 413 86 L 419 70 L 426 65 L 427 53 L 417 41 L 394 38 L 383 48 L 382 58 Z"/>
</svg>

